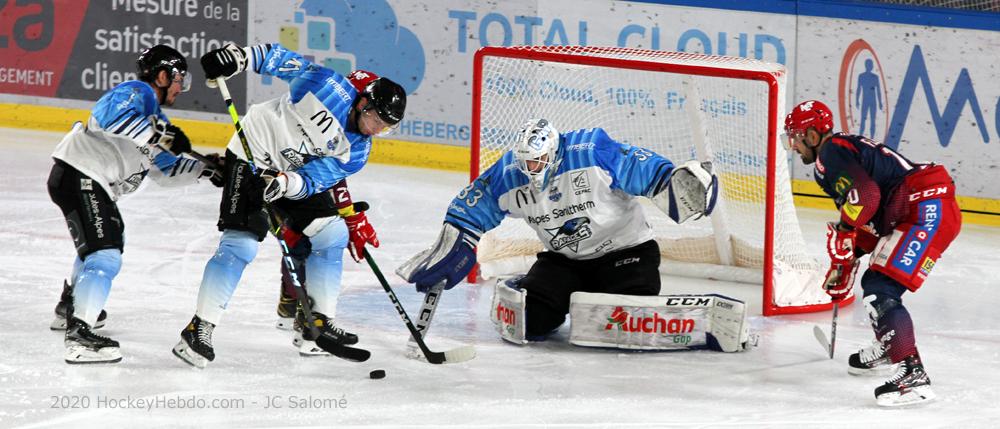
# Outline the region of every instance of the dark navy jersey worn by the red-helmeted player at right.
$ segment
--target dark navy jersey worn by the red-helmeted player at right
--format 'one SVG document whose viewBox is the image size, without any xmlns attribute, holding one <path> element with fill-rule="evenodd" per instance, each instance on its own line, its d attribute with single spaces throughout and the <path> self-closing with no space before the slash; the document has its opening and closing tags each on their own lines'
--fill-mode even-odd
<svg viewBox="0 0 1000 429">
<path fill-rule="evenodd" d="M 886 210 L 896 188 L 921 165 L 867 137 L 837 133 L 820 147 L 813 175 L 842 222 L 883 235 L 899 221 Z"/>
</svg>

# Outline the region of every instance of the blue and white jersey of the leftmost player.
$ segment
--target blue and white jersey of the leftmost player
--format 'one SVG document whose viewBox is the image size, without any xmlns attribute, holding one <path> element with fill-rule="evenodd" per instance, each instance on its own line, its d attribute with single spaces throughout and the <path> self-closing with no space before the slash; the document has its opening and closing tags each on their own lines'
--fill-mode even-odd
<svg viewBox="0 0 1000 429">
<path fill-rule="evenodd" d="M 151 143 L 155 122 L 169 120 L 153 88 L 122 82 L 97 100 L 86 126 L 76 124 L 52 156 L 99 183 L 113 200 L 134 192 L 147 175 L 168 186 L 197 181 L 201 162 Z"/>
</svg>

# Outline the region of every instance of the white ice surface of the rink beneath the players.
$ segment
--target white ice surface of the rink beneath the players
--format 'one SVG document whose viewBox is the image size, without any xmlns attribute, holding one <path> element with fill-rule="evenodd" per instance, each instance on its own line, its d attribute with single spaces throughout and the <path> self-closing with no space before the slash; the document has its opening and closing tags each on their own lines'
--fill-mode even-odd
<svg viewBox="0 0 1000 429">
<path fill-rule="evenodd" d="M 965 225 L 927 283 L 904 302 L 937 401 L 907 409 L 875 405 L 882 377 L 847 374 L 867 344 L 863 306 L 841 310 L 837 354 L 813 337 L 830 313 L 751 317 L 758 346 L 711 351 L 621 352 L 552 340 L 502 342 L 487 318 L 492 285 L 445 292 L 428 343 L 475 345 L 477 357 L 430 365 L 405 356 L 408 333 L 366 264 L 345 263 L 338 323 L 361 337 L 371 360 L 299 357 L 274 328 L 279 252 L 265 240 L 215 330 L 217 358 L 204 370 L 171 354 L 190 320 L 205 262 L 218 243 L 219 191 L 149 185 L 120 203 L 124 266 L 98 331 L 121 342 L 112 365 L 63 362 L 52 309 L 75 256 L 45 181 L 59 133 L 0 129 L 0 427 L 996 427 L 1000 419 L 1000 230 Z M 430 245 L 460 173 L 367 166 L 352 176 L 355 200 L 372 205 L 382 271 L 415 313 L 421 296 L 395 275 Z M 811 252 L 825 260 L 824 224 L 835 214 L 800 210 Z M 708 283 L 707 285 L 705 283 Z M 668 279 L 667 290 L 715 288 Z M 719 284 L 718 288 L 754 286 Z M 819 287 L 817 285 L 817 287 Z M 369 379 L 384 369 L 381 380 Z M 151 407 L 147 407 L 151 406 Z"/>
</svg>

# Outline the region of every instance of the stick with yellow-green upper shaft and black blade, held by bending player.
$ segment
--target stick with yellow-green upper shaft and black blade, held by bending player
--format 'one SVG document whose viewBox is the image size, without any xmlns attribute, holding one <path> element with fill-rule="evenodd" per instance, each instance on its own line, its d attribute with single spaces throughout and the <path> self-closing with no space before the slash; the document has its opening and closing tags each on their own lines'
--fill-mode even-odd
<svg viewBox="0 0 1000 429">
<path fill-rule="evenodd" d="M 236 113 L 236 105 L 233 104 L 233 98 L 229 95 L 229 88 L 226 86 L 226 80 L 220 77 L 215 80 L 215 83 L 219 85 L 219 92 L 222 93 L 222 98 L 226 100 L 226 109 L 229 111 L 229 116 L 233 118 L 233 126 L 236 127 L 236 135 L 239 136 L 240 144 L 243 145 L 243 153 L 246 155 L 247 162 L 250 164 L 250 171 L 256 175 L 257 165 L 254 164 L 253 152 L 250 151 L 250 144 L 247 142 L 247 136 L 243 132 L 243 126 L 240 124 L 240 115 Z M 364 362 L 368 360 L 368 358 L 371 357 L 371 352 L 368 350 L 338 344 L 335 341 L 320 335 L 319 328 L 316 327 L 316 319 L 312 314 L 312 308 L 309 305 L 309 296 L 306 294 L 306 290 L 302 286 L 302 283 L 299 282 L 299 277 L 296 274 L 295 259 L 292 258 L 292 255 L 290 254 L 288 243 L 286 243 L 285 239 L 281 237 L 281 218 L 271 207 L 270 203 L 265 202 L 264 207 L 267 210 L 268 223 L 270 223 L 271 226 L 271 235 L 278 239 L 278 244 L 281 245 L 281 259 L 284 261 L 285 267 L 288 268 L 288 275 L 292 279 L 292 286 L 295 287 L 295 295 L 299 300 L 299 305 L 302 307 L 303 314 L 305 314 L 306 324 L 309 325 L 306 329 L 309 329 L 313 337 L 316 338 L 316 345 L 324 351 L 341 359 L 354 362 Z"/>
</svg>

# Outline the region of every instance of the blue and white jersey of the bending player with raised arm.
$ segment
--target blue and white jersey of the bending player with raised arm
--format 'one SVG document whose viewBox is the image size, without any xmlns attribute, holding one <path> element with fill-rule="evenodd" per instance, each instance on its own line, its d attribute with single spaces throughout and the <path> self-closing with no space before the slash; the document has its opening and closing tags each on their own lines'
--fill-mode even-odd
<svg viewBox="0 0 1000 429">
<path fill-rule="evenodd" d="M 329 189 L 368 162 L 371 138 L 348 123 L 358 92 L 343 75 L 279 44 L 250 48 L 250 67 L 288 83 L 284 96 L 256 104 L 243 118 L 254 161 L 302 176 L 300 199 Z M 234 136 L 229 149 L 243 156 Z"/>
</svg>

